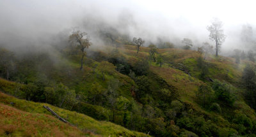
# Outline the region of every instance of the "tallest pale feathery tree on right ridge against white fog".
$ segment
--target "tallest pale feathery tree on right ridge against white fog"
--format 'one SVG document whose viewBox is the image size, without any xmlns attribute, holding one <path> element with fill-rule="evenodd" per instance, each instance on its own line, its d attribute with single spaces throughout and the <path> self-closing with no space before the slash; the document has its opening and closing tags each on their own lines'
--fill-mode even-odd
<svg viewBox="0 0 256 137">
<path fill-rule="evenodd" d="M 216 43 L 216 56 L 218 56 L 220 46 L 226 38 L 223 29 L 221 29 L 222 25 L 222 22 L 218 18 L 214 18 L 212 25 L 207 26 L 207 30 L 210 32 L 209 39 Z"/>
</svg>

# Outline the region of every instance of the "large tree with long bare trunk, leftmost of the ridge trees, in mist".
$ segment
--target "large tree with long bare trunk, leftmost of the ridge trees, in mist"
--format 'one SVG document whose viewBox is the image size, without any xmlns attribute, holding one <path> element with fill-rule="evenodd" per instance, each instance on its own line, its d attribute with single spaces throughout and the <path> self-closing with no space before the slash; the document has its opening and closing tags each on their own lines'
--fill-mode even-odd
<svg viewBox="0 0 256 137">
<path fill-rule="evenodd" d="M 69 36 L 69 41 L 72 45 L 76 45 L 82 52 L 81 67 L 83 69 L 84 56 L 86 55 L 86 48 L 89 48 L 92 43 L 90 42 L 90 36 L 86 32 L 76 31 Z"/>
</svg>

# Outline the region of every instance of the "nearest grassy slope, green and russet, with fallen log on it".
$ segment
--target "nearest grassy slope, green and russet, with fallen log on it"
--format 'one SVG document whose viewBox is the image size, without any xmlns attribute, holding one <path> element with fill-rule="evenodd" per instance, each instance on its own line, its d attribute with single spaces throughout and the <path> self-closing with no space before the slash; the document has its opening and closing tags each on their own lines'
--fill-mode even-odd
<svg viewBox="0 0 256 137">
<path fill-rule="evenodd" d="M 43 105 L 74 126 L 52 116 Z M 0 92 L 1 136 L 146 136 L 111 122 L 97 121 L 45 103 L 16 99 Z"/>
</svg>

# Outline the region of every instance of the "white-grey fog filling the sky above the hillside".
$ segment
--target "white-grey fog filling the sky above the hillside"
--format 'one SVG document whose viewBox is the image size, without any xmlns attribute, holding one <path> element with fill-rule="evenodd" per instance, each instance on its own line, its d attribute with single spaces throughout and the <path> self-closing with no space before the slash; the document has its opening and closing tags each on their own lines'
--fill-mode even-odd
<svg viewBox="0 0 256 137">
<path fill-rule="evenodd" d="M 244 24 L 255 28 L 253 5 L 253 1 L 0 0 L 0 46 L 28 50 L 65 45 L 72 31 L 81 30 L 91 36 L 92 47 L 99 47 L 104 45 L 99 31 L 111 29 L 131 39 L 143 38 L 144 46 L 159 38 L 177 46 L 183 38 L 191 39 L 195 47 L 205 41 L 214 45 L 206 27 L 217 17 L 227 36 L 221 46 L 225 54 L 244 49 L 241 29 Z"/>
</svg>

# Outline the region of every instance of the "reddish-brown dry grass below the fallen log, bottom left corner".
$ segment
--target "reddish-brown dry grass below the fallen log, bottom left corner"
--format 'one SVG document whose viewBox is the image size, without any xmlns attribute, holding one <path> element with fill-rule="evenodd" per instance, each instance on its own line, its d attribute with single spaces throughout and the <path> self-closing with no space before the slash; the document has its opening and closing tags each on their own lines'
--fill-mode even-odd
<svg viewBox="0 0 256 137">
<path fill-rule="evenodd" d="M 22 112 L 0 104 L 0 136 L 85 136 L 76 127 L 45 114 Z"/>
</svg>

